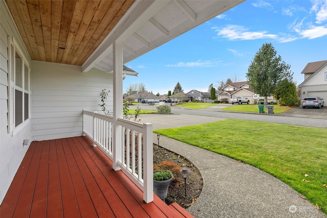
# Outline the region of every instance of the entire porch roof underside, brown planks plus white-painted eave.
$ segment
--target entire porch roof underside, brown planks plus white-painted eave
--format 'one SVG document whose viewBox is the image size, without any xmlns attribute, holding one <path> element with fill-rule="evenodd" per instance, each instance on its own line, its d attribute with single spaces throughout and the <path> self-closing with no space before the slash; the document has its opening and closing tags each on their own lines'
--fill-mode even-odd
<svg viewBox="0 0 327 218">
<path fill-rule="evenodd" d="M 114 41 L 125 64 L 244 1 L 5 2 L 32 60 L 110 72 Z"/>
</svg>

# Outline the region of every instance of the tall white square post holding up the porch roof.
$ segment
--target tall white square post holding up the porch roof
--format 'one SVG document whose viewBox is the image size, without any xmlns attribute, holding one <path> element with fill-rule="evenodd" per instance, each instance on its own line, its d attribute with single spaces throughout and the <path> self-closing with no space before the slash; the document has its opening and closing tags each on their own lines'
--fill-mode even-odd
<svg viewBox="0 0 327 218">
<path fill-rule="evenodd" d="M 118 162 L 122 161 L 122 127 L 117 125 L 123 118 L 123 45 L 113 42 L 113 163 L 112 168 L 118 171 Z"/>
</svg>

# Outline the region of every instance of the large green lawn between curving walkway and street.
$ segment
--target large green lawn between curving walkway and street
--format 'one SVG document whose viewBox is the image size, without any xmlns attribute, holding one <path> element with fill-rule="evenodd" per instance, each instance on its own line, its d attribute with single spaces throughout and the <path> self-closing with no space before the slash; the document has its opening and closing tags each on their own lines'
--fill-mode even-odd
<svg viewBox="0 0 327 218">
<path fill-rule="evenodd" d="M 327 214 L 326 129 L 225 119 L 154 132 L 260 168 Z"/>
</svg>

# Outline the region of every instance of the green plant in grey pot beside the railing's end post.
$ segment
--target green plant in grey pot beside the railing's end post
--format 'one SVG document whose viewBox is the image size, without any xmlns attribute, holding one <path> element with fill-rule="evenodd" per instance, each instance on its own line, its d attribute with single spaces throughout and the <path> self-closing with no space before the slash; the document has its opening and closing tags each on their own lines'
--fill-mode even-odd
<svg viewBox="0 0 327 218">
<path fill-rule="evenodd" d="M 153 191 L 162 200 L 167 198 L 168 187 L 174 175 L 166 169 L 153 171 Z"/>
</svg>

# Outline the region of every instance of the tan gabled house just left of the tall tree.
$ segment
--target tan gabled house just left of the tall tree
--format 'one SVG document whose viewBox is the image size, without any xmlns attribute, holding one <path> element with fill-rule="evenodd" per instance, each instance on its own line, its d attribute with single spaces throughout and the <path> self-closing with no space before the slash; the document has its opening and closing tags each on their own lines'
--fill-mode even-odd
<svg viewBox="0 0 327 218">
<path fill-rule="evenodd" d="M 254 91 L 249 87 L 248 82 L 236 82 L 229 83 L 225 85 L 223 90 L 218 94 L 218 99 L 228 99 L 230 102 L 231 99 L 236 98 L 237 96 L 244 96 L 249 99 L 250 104 L 253 104 L 253 94 Z"/>
</svg>

